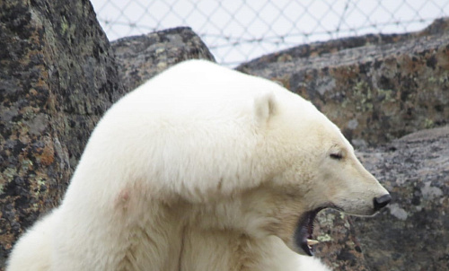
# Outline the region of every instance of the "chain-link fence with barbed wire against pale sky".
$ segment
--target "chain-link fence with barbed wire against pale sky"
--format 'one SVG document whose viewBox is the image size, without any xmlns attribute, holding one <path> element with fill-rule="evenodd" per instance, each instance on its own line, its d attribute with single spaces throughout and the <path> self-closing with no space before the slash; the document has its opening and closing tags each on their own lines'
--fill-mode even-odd
<svg viewBox="0 0 449 271">
<path fill-rule="evenodd" d="M 449 15 L 449 0 L 92 0 L 112 39 L 189 26 L 219 63 L 365 33 L 418 31 Z"/>
</svg>

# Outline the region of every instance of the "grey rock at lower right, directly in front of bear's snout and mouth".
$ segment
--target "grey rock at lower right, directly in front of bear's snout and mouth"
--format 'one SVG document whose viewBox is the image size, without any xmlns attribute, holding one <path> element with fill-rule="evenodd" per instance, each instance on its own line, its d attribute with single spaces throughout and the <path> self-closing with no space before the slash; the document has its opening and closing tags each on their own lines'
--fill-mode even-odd
<svg viewBox="0 0 449 271">
<path fill-rule="evenodd" d="M 375 217 L 328 211 L 317 253 L 335 270 L 449 269 L 449 127 L 421 130 L 357 152 L 392 194 Z"/>
</svg>

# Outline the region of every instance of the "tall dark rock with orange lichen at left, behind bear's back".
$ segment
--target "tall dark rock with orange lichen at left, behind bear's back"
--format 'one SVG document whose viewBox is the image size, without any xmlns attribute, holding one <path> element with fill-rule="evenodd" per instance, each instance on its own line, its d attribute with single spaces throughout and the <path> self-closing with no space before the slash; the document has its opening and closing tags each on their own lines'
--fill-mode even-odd
<svg viewBox="0 0 449 271">
<path fill-rule="evenodd" d="M 88 1 L 0 3 L 2 269 L 22 230 L 58 205 L 92 128 L 124 91 Z"/>
</svg>

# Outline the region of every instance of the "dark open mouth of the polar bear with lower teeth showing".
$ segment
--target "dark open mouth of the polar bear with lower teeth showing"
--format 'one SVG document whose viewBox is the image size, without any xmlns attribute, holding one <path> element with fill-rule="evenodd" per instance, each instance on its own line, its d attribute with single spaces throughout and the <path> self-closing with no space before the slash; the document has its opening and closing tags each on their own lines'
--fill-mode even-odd
<svg viewBox="0 0 449 271">
<path fill-rule="evenodd" d="M 298 226 L 296 227 L 295 244 L 309 256 L 313 256 L 313 246 L 319 243 L 319 241 L 313 240 L 313 220 L 315 220 L 316 214 L 322 209 L 324 207 L 305 213 L 299 218 Z"/>
</svg>

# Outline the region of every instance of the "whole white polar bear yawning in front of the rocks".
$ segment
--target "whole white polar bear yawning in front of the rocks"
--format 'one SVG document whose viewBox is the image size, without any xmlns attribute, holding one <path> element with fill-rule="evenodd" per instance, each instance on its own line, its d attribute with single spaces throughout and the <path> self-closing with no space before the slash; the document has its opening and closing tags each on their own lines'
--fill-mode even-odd
<svg viewBox="0 0 449 271">
<path fill-rule="evenodd" d="M 190 60 L 108 110 L 7 270 L 329 270 L 315 215 L 390 199 L 312 103 Z"/>
</svg>

